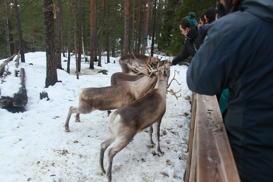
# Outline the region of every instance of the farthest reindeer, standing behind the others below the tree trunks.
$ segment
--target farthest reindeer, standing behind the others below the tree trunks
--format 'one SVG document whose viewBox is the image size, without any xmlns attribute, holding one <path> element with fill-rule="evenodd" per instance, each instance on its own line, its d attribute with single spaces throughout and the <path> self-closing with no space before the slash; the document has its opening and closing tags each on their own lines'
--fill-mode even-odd
<svg viewBox="0 0 273 182">
<path fill-rule="evenodd" d="M 146 63 L 159 62 L 157 57 L 146 56 L 143 54 L 126 54 L 119 58 L 119 64 L 122 72 L 134 74 L 145 69 Z"/>
</svg>

